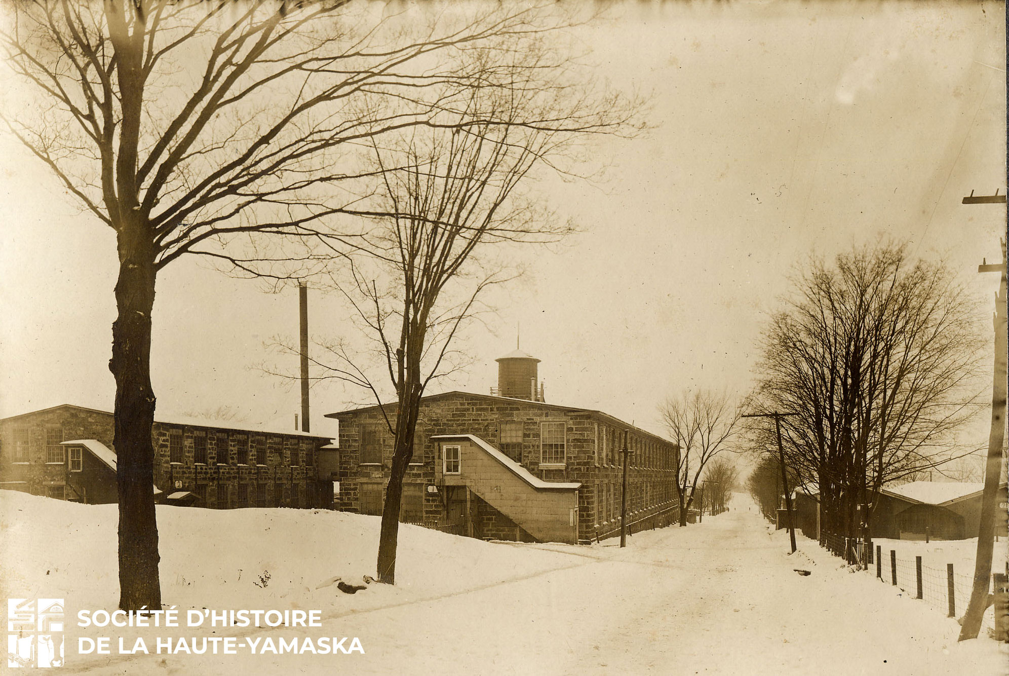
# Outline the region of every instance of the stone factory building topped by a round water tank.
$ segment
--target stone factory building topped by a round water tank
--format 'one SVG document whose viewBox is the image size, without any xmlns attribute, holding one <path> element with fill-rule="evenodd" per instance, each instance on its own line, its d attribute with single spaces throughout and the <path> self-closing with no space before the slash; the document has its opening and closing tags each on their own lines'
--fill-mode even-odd
<svg viewBox="0 0 1009 676">
<path fill-rule="evenodd" d="M 491 395 L 423 398 L 400 520 L 477 538 L 590 542 L 620 534 L 625 433 L 628 523 L 676 521 L 678 447 L 599 411 L 547 404 L 539 359 L 498 363 Z M 385 407 L 389 421 L 395 407 Z M 334 506 L 379 515 L 393 435 L 382 409 L 328 414 L 340 423 Z M 322 474 L 320 475 L 322 476 Z"/>
</svg>

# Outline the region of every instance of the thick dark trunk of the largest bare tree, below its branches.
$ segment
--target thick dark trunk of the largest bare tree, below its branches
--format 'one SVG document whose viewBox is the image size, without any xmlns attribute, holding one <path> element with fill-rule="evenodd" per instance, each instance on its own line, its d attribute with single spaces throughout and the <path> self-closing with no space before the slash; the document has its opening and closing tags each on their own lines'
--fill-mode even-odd
<svg viewBox="0 0 1009 676">
<path fill-rule="evenodd" d="M 157 525 L 154 520 L 154 452 L 150 429 L 154 392 L 150 386 L 150 311 L 154 263 L 145 225 L 119 230 L 118 316 L 112 324 L 116 380 L 116 485 L 119 496 L 119 607 L 160 609 Z"/>
</svg>

